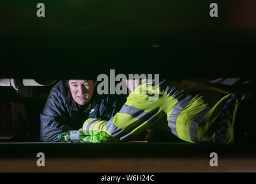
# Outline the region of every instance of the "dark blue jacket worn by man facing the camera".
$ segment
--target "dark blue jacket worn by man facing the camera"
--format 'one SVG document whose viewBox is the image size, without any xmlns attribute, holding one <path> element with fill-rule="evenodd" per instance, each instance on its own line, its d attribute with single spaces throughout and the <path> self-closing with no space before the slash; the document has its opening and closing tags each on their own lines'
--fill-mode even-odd
<svg viewBox="0 0 256 184">
<path fill-rule="evenodd" d="M 80 106 L 71 97 L 66 81 L 52 87 L 43 112 L 40 113 L 40 141 L 56 142 L 59 133 L 82 128 L 88 118 L 110 120 L 126 102 L 125 95 L 99 95 L 95 91 L 91 101 Z"/>
</svg>

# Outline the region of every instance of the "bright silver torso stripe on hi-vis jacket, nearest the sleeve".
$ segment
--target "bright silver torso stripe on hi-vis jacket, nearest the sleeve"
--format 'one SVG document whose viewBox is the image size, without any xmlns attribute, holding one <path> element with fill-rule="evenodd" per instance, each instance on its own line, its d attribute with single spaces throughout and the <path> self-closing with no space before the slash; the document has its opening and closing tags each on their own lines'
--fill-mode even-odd
<svg viewBox="0 0 256 184">
<path fill-rule="evenodd" d="M 176 131 L 176 120 L 177 120 L 179 114 L 183 111 L 183 109 L 189 104 L 191 99 L 192 99 L 191 95 L 187 95 L 185 98 L 180 99 L 176 103 L 174 109 L 172 109 L 172 112 L 169 116 L 168 126 L 171 128 L 172 133 L 177 137 L 179 137 L 179 136 L 178 136 L 178 133 Z"/>
</svg>

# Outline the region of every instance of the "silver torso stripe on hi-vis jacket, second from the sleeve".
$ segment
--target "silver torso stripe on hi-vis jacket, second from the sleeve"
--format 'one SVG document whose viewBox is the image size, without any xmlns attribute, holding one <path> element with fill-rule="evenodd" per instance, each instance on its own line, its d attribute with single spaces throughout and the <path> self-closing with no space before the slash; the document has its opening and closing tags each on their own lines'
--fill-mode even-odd
<svg viewBox="0 0 256 184">
<path fill-rule="evenodd" d="M 198 131 L 198 124 L 202 121 L 205 115 L 212 109 L 210 106 L 206 106 L 201 112 L 199 112 L 198 116 L 191 122 L 190 124 L 190 139 L 194 143 L 198 143 L 197 131 Z"/>
</svg>

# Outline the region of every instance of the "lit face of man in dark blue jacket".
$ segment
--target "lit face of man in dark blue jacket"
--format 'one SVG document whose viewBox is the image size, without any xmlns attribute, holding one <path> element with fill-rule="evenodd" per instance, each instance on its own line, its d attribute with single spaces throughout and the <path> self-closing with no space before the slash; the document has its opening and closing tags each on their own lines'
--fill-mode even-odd
<svg viewBox="0 0 256 184">
<path fill-rule="evenodd" d="M 71 95 L 79 105 L 87 104 L 93 95 L 96 81 L 91 80 L 69 80 Z"/>
</svg>

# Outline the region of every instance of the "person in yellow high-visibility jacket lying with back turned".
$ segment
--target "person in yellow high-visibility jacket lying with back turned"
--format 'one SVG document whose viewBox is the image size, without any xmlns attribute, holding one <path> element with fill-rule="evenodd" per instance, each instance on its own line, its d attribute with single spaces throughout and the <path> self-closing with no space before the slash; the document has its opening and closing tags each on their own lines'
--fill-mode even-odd
<svg viewBox="0 0 256 184">
<path fill-rule="evenodd" d="M 157 94 L 157 95 L 156 95 Z M 149 100 L 156 96 L 155 100 Z M 89 118 L 83 141 L 132 140 L 147 129 L 173 134 L 191 143 L 232 143 L 243 95 L 190 81 L 142 81 L 108 121 Z"/>
</svg>

